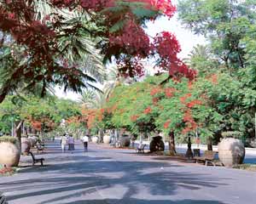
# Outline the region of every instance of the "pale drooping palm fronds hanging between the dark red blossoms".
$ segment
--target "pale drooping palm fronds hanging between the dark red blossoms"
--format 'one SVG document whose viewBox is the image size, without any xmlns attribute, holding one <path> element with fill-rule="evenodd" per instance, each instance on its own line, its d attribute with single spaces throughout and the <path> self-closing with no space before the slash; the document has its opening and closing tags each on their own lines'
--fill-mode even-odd
<svg viewBox="0 0 256 204">
<path fill-rule="evenodd" d="M 57 13 L 63 18 L 59 29 L 61 32 L 77 27 L 70 35 L 59 38 L 59 49 L 61 54 L 65 54 L 69 63 L 76 64 L 89 76 L 88 85 L 96 88 L 90 83 L 90 77 L 97 82 L 103 82 L 106 77 L 106 67 L 102 63 L 100 50 L 96 49 L 96 39 L 92 37 L 92 32 L 98 28 L 88 23 L 91 14 L 81 12 L 79 9 L 69 11 L 67 8 L 54 8 L 44 0 L 36 0 L 34 3 L 38 20 L 44 21 L 50 14 Z"/>
</svg>

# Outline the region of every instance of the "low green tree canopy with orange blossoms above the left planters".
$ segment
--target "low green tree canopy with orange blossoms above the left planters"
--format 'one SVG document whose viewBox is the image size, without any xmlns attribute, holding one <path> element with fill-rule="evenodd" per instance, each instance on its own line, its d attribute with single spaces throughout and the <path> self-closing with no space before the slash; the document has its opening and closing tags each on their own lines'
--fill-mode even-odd
<svg viewBox="0 0 256 204">
<path fill-rule="evenodd" d="M 44 131 L 50 131 L 61 119 L 72 116 L 81 116 L 80 105 L 72 100 L 13 95 L 0 105 L 0 130 L 10 133 L 12 122 L 23 120 L 27 126 L 39 122 Z"/>
</svg>

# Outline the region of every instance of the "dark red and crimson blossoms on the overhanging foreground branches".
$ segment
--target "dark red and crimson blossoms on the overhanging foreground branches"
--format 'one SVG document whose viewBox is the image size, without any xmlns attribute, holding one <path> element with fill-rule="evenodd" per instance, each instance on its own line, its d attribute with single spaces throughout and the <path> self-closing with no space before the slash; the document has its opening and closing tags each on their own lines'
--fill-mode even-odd
<svg viewBox="0 0 256 204">
<path fill-rule="evenodd" d="M 141 7 L 148 8 L 155 12 L 153 19 L 160 14 L 172 17 L 176 8 L 172 4 L 172 0 L 123 0 L 124 2 L 142 3 Z M 65 52 L 61 52 L 59 48 L 60 37 L 65 37 L 75 33 L 78 26 L 70 29 L 61 30 L 60 25 L 63 24 L 61 14 L 52 13 L 45 16 L 44 20 L 38 21 L 35 16 L 36 9 L 32 1 L 2 1 L 0 4 L 0 31 L 7 32 L 15 39 L 16 42 L 26 48 L 26 56 L 32 60 L 27 66 L 19 70 L 22 77 L 29 77 L 28 81 L 33 81 L 38 77 L 37 67 L 47 67 L 47 82 L 60 83 L 52 76 L 61 74 L 61 79 L 68 79 L 68 82 L 76 83 L 79 79 L 71 76 L 82 76 L 77 71 L 73 75 L 75 67 L 69 67 L 68 63 L 64 63 L 64 67 L 56 63 L 64 56 Z M 28 3 L 29 2 L 29 3 Z M 177 58 L 177 54 L 181 51 L 177 38 L 169 32 L 161 32 L 154 37 L 153 42 L 149 41 L 148 35 L 143 30 L 145 20 L 150 17 L 139 17 L 134 14 L 135 9 L 140 7 L 139 4 L 123 5 L 117 4 L 118 0 L 50 0 L 52 8 L 69 8 L 84 9 L 88 12 L 94 12 L 99 21 L 89 20 L 88 24 L 99 23 L 102 26 L 101 32 L 96 32 L 96 37 L 102 37 L 102 42 L 98 43 L 105 59 L 115 57 L 119 64 L 119 71 L 124 77 L 143 76 L 143 65 L 139 63 L 141 59 L 147 59 L 152 56 L 156 57 L 155 64 L 161 70 L 169 71 L 172 77 L 184 76 L 189 79 L 195 77 L 195 71 L 190 70 L 183 62 Z M 117 7 L 108 12 L 109 7 Z M 107 9 L 105 9 L 107 8 Z M 47 24 L 45 21 L 47 20 Z M 120 20 L 124 26 L 119 29 L 113 29 Z M 113 31 L 115 30 L 115 31 Z M 63 53 L 63 54 L 62 54 Z M 63 56 L 62 56 L 63 55 Z M 65 57 L 65 56 L 64 56 Z M 28 70 L 28 71 L 27 71 Z M 72 72 L 72 74 L 70 74 Z M 29 75 L 29 76 L 25 76 Z M 40 75 L 41 76 L 41 75 Z M 42 74 L 44 76 L 44 74 Z M 37 78 L 38 79 L 38 78 Z M 42 77 L 43 81 L 44 77 Z M 39 80 L 38 80 L 39 81 Z M 79 82 L 77 82 L 79 83 Z M 0 98 L 0 100 L 2 100 Z"/>
</svg>

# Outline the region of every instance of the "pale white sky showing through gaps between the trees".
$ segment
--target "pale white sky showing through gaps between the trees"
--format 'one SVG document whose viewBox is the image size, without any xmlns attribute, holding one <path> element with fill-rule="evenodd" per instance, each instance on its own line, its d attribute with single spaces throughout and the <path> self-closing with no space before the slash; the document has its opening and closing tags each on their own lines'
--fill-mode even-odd
<svg viewBox="0 0 256 204">
<path fill-rule="evenodd" d="M 174 3 L 175 2 L 176 0 Z M 154 37 L 156 33 L 161 31 L 170 31 L 174 33 L 182 48 L 182 52 L 178 54 L 178 57 L 181 59 L 186 58 L 195 45 L 206 43 L 204 37 L 194 35 L 189 29 L 185 29 L 179 20 L 177 20 L 177 14 L 175 14 L 171 20 L 162 17 L 154 22 L 149 22 L 146 31 L 151 37 Z M 65 94 L 63 88 L 55 88 L 55 94 L 60 98 L 73 100 L 79 99 L 79 95 L 73 92 L 67 92 L 67 94 Z"/>
</svg>

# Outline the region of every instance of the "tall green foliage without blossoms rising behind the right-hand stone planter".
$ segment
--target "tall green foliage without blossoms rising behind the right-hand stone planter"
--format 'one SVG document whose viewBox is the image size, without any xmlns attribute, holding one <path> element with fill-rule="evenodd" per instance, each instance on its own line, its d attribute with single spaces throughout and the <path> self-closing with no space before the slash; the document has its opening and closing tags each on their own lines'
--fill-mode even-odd
<svg viewBox="0 0 256 204">
<path fill-rule="evenodd" d="M 209 105 L 222 116 L 216 134 L 238 131 L 245 138 L 255 137 L 255 3 L 185 0 L 178 3 L 178 14 L 184 26 L 208 42 L 207 50 L 195 48 L 187 61 L 206 77 L 197 80 L 198 90 L 207 93 Z M 213 85 L 208 80 L 212 73 L 218 78 Z"/>
</svg>

